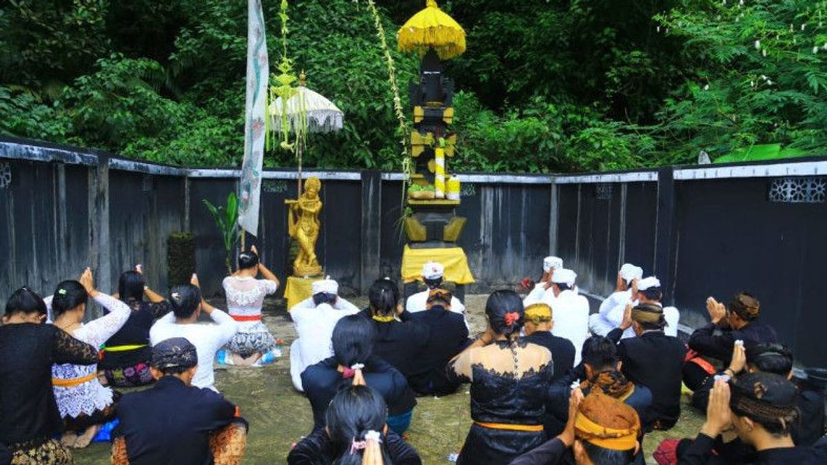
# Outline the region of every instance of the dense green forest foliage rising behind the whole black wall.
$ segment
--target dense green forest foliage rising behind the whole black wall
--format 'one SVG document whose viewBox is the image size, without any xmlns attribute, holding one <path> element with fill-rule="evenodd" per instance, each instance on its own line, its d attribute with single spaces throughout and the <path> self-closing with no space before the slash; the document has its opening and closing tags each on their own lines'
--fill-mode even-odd
<svg viewBox="0 0 827 465">
<path fill-rule="evenodd" d="M 395 50 L 421 0 L 375 0 Z M 368 2 L 290 2 L 287 48 L 345 113 L 304 165 L 400 170 L 400 127 Z M 452 0 L 451 171 L 567 172 L 691 163 L 779 144 L 827 147 L 824 0 Z M 264 2 L 271 69 L 280 2 Z M 758 43 L 757 43 L 758 41 Z M 0 7 L 0 133 L 176 165 L 240 165 L 246 2 L 12 0 Z M 746 152 L 745 152 L 746 151 Z M 273 151 L 265 165 L 290 166 Z"/>
</svg>

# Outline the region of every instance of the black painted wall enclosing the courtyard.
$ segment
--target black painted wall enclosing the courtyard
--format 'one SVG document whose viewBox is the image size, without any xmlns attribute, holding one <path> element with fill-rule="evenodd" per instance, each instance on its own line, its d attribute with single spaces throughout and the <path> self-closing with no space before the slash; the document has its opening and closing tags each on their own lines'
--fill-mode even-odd
<svg viewBox="0 0 827 465">
<path fill-rule="evenodd" d="M 146 175 L 107 168 L 107 154 L 29 143 L 21 148 L 19 141 L 15 147 L 0 141 L 0 174 L 6 166 L 12 174 L 10 183 L 0 185 L 0 300 L 21 285 L 49 295 L 84 266 L 106 270 L 98 283 L 111 291 L 120 272 L 138 262 L 150 284 L 165 291 L 166 237 L 180 230 L 196 237 L 196 271 L 205 293 L 221 292 L 223 247 L 202 199 L 224 204 L 235 179 L 188 178 L 160 168 L 155 171 L 165 175 Z M 657 180 L 608 185 L 568 184 L 571 178 L 557 184 L 504 177 L 495 182 L 496 175 L 485 183 L 465 182 L 457 213 L 468 218 L 460 245 L 477 280 L 469 291 L 536 278 L 543 256 L 551 253 L 578 273 L 581 290 L 599 297 L 613 290 L 619 265 L 629 261 L 647 276 L 657 273 L 667 302 L 681 309 L 681 323 L 690 326 L 705 323 L 708 295 L 729 300 L 739 290 L 752 291 L 798 360 L 823 365 L 827 204 L 769 202 L 770 177 L 673 175 L 667 168 Z M 375 171 L 364 180 L 351 177 L 323 180 L 317 246 L 327 274 L 346 293 L 366 289 L 375 277 L 399 279 L 404 246 L 401 183 L 380 180 Z M 264 180 L 261 234 L 247 238 L 282 278 L 291 268 L 284 199 L 294 198 L 295 189 L 294 180 Z M 379 218 L 364 218 L 366 212 Z"/>
</svg>

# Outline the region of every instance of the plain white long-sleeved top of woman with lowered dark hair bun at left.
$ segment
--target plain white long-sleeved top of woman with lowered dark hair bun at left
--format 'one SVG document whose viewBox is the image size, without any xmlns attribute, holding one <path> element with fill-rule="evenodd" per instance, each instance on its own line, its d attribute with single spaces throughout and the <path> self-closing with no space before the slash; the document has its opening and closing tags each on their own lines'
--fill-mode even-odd
<svg viewBox="0 0 827 465">
<path fill-rule="evenodd" d="M 178 324 L 175 323 L 175 315 L 172 312 L 165 314 L 150 328 L 150 343 L 154 346 L 169 338 L 186 338 L 198 352 L 198 369 L 193 377 L 193 386 L 206 387 L 218 392 L 213 386 L 215 352 L 236 334 L 238 324 L 230 315 L 219 309 L 213 309 L 209 316 L 215 324 Z"/>
</svg>

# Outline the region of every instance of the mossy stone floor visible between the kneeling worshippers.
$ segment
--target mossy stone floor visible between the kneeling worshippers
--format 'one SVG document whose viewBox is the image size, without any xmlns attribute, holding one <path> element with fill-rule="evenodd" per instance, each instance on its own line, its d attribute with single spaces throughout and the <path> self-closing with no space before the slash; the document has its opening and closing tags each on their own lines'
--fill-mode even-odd
<svg viewBox="0 0 827 465">
<path fill-rule="evenodd" d="M 485 295 L 471 295 L 466 306 L 474 331 L 485 328 Z M 364 299 L 351 300 L 364 305 Z M 224 308 L 222 301 L 214 302 Z M 289 375 L 289 344 L 294 340 L 293 325 L 280 300 L 268 302 L 265 322 L 276 338 L 284 340 L 284 355 L 264 368 L 227 367 L 216 369 L 216 385 L 227 399 L 241 407 L 241 415 L 250 422 L 245 463 L 286 463 L 293 443 L 307 434 L 313 424 L 310 404 L 294 391 Z M 418 399 L 414 419 L 409 430 L 409 441 L 417 448 L 425 464 L 446 464 L 447 456 L 459 452 L 471 425 L 467 386 L 457 394 L 442 398 Z M 675 428 L 667 433 L 649 434 L 644 444 L 647 462 L 654 463 L 652 450 L 667 437 L 694 437 L 703 419 L 686 405 Z M 88 448 L 74 451 L 79 465 L 109 463 L 109 444 L 93 443 Z"/>
</svg>

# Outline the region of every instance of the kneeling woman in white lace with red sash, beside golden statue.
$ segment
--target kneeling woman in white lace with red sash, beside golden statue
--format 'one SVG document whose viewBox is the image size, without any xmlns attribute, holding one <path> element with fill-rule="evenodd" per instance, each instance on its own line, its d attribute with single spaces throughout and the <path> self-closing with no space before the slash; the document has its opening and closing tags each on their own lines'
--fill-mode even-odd
<svg viewBox="0 0 827 465">
<path fill-rule="evenodd" d="M 256 279 L 261 273 L 264 279 Z M 238 271 L 224 278 L 227 313 L 238 322 L 238 331 L 218 352 L 218 362 L 262 367 L 281 356 L 281 349 L 261 320 L 266 295 L 279 289 L 279 278 L 259 261 L 256 247 L 238 256 Z"/>
</svg>

